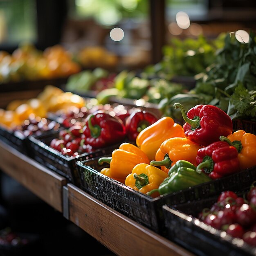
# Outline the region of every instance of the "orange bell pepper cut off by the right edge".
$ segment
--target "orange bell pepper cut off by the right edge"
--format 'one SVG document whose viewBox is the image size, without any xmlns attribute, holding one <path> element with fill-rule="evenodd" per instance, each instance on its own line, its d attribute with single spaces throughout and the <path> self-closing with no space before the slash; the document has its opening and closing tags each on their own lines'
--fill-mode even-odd
<svg viewBox="0 0 256 256">
<path fill-rule="evenodd" d="M 220 140 L 226 141 L 238 150 L 238 160 L 242 170 L 256 165 L 256 135 L 237 130 L 227 137 L 220 136 Z"/>
</svg>

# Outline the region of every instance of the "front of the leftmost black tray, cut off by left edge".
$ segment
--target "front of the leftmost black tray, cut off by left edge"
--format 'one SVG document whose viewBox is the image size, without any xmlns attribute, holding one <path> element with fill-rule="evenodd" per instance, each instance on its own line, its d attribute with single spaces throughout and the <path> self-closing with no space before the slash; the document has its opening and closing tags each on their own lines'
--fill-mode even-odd
<svg viewBox="0 0 256 256">
<path fill-rule="evenodd" d="M 24 155 L 29 155 L 29 140 L 18 132 L 7 130 L 0 126 L 0 140 L 12 146 Z"/>
</svg>

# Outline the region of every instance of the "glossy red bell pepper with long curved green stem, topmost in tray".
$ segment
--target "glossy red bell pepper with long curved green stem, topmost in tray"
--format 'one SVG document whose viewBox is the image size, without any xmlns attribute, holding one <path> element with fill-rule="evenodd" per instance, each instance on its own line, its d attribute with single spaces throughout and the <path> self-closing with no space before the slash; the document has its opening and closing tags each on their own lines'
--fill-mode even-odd
<svg viewBox="0 0 256 256">
<path fill-rule="evenodd" d="M 182 104 L 174 103 L 173 106 L 181 110 L 185 137 L 202 146 L 208 146 L 218 141 L 221 135 L 228 136 L 233 131 L 229 115 L 216 106 L 200 104 L 187 114 Z"/>
</svg>

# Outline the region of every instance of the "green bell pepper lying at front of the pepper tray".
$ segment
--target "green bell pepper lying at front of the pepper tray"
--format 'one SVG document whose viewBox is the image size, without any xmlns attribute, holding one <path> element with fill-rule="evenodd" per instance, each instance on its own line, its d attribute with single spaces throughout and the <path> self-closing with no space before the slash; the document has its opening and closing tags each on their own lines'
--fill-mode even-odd
<svg viewBox="0 0 256 256">
<path fill-rule="evenodd" d="M 189 187 L 211 181 L 211 178 L 202 172 L 197 172 L 196 167 L 188 161 L 178 160 L 168 172 L 168 177 L 159 185 L 158 189 L 149 191 L 159 192 L 160 195 L 187 189 Z"/>
</svg>

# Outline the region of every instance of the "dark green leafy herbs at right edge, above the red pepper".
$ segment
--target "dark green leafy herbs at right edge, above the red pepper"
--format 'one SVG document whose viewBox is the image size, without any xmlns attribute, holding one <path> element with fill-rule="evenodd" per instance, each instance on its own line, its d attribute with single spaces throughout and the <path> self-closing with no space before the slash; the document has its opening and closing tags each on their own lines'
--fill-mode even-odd
<svg viewBox="0 0 256 256">
<path fill-rule="evenodd" d="M 213 96 L 209 104 L 227 112 L 231 119 L 255 119 L 255 89 L 254 33 L 249 43 L 240 43 L 233 34 L 226 34 L 224 47 L 216 52 L 216 61 L 198 76 L 193 92 Z"/>
</svg>

